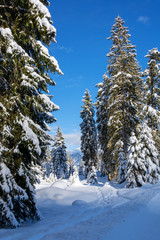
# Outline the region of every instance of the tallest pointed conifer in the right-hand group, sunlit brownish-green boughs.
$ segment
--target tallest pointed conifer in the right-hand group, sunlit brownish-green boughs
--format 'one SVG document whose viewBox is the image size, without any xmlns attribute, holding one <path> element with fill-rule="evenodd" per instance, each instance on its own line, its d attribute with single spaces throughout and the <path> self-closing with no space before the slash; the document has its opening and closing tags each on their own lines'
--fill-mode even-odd
<svg viewBox="0 0 160 240">
<path fill-rule="evenodd" d="M 125 181 L 128 144 L 138 123 L 138 94 L 142 86 L 135 46 L 121 17 L 115 19 L 112 47 L 107 54 L 109 85 L 107 89 L 107 166 L 109 179 Z M 106 134 L 106 133 L 105 133 Z"/>
</svg>

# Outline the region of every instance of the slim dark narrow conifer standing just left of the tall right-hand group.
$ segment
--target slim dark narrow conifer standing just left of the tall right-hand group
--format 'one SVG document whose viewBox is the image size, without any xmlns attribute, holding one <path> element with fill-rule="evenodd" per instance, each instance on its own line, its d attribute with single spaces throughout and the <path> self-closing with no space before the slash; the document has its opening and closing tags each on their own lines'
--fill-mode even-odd
<svg viewBox="0 0 160 240">
<path fill-rule="evenodd" d="M 92 166 L 97 166 L 97 132 L 94 120 L 94 109 L 91 100 L 91 96 L 88 90 L 86 90 L 84 99 L 83 110 L 80 112 L 82 118 L 81 128 L 81 151 L 82 161 L 85 166 L 85 176 Z"/>
</svg>

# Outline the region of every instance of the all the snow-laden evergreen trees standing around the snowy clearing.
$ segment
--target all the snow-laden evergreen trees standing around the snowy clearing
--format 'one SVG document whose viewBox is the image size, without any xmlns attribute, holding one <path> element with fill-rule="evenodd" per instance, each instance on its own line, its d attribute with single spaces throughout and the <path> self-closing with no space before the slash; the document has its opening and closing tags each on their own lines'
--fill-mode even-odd
<svg viewBox="0 0 160 240">
<path fill-rule="evenodd" d="M 91 185 L 103 177 L 125 188 L 160 181 L 160 52 L 148 50 L 142 71 L 124 20 L 115 19 L 96 102 L 88 89 L 82 99 L 77 167 L 61 128 L 49 134 L 54 111 L 61 111 L 49 93 L 51 86 L 56 91 L 51 74 L 63 72 L 49 53 L 56 29 L 48 6 L 47 0 L 0 1 L 0 228 L 41 219 L 39 174 Z"/>
</svg>

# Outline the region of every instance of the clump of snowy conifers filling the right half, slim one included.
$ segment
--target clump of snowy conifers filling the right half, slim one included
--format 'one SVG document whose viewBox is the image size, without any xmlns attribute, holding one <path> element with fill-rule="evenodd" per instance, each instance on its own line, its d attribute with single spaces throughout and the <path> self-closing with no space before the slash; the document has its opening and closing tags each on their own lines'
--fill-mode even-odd
<svg viewBox="0 0 160 240">
<path fill-rule="evenodd" d="M 100 154 L 97 154 L 94 105 L 88 90 L 81 111 L 81 150 L 87 173 L 92 165 L 99 165 L 98 155 L 101 175 L 107 175 L 109 181 L 135 187 L 160 179 L 160 52 L 157 48 L 148 52 L 148 67 L 141 72 L 135 46 L 124 24 L 120 16 L 115 19 L 108 38 L 112 46 L 107 54 L 107 72 L 103 82 L 97 84 L 95 106 Z"/>
</svg>

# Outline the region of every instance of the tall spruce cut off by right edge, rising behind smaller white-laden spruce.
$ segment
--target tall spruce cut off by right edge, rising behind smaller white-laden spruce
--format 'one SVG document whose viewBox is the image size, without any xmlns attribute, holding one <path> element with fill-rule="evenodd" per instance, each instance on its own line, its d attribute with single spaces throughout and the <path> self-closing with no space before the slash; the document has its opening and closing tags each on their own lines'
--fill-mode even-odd
<svg viewBox="0 0 160 240">
<path fill-rule="evenodd" d="M 157 48 L 148 51 L 148 67 L 144 70 L 145 76 L 145 119 L 151 127 L 153 136 L 160 154 L 160 52 Z"/>
</svg>

